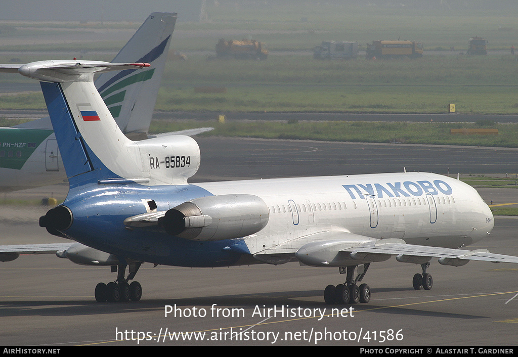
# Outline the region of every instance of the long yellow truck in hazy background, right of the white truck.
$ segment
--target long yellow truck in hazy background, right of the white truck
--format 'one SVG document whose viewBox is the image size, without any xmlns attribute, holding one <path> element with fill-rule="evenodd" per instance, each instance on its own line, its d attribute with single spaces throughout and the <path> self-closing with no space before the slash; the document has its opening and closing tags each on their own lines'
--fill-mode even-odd
<svg viewBox="0 0 518 357">
<path fill-rule="evenodd" d="M 384 40 L 372 41 L 372 44 L 367 44 L 367 54 L 365 58 L 419 58 L 422 56 L 422 42 L 408 40 Z"/>
</svg>

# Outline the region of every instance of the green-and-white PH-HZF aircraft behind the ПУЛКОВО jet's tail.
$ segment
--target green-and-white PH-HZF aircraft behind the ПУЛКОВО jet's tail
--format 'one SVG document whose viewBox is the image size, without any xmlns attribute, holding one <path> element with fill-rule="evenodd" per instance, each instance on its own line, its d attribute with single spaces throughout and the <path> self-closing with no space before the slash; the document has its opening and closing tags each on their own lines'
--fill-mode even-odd
<svg viewBox="0 0 518 357">
<path fill-rule="evenodd" d="M 176 13 L 154 12 L 121 49 L 114 62 L 149 62 L 146 71 L 101 74 L 95 81 L 122 132 L 147 138 L 164 72 Z M 21 65 L 5 65 L 17 73 Z M 0 192 L 63 182 L 66 174 L 50 118 L 0 128 Z"/>
</svg>

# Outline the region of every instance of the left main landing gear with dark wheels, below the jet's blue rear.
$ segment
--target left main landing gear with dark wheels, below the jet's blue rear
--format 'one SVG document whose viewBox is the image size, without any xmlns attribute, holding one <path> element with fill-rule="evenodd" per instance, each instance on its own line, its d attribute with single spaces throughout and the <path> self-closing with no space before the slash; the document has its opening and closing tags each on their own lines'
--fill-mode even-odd
<svg viewBox="0 0 518 357">
<path fill-rule="evenodd" d="M 131 284 L 128 283 L 137 274 L 138 268 L 142 262 L 131 263 L 128 268 L 128 276 L 124 278 L 124 272 L 126 265 L 113 265 L 111 267 L 112 272 L 117 273 L 117 280 L 105 284 L 100 282 L 95 287 L 95 300 L 99 303 L 111 302 L 117 303 L 120 301 L 139 301 L 142 297 L 142 287 L 138 281 L 133 281 Z"/>
</svg>

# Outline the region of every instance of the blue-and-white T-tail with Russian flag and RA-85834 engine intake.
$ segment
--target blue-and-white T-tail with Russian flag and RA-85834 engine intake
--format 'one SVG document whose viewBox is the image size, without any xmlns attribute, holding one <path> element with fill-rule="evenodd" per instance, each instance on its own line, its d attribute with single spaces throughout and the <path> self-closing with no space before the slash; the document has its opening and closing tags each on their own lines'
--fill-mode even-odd
<svg viewBox="0 0 518 357">
<path fill-rule="evenodd" d="M 128 139 L 94 86 L 96 73 L 149 66 L 61 60 L 33 62 L 18 69 L 41 82 L 71 188 L 94 182 L 186 184 L 196 173 L 200 153 L 194 139 L 181 135 Z"/>
</svg>

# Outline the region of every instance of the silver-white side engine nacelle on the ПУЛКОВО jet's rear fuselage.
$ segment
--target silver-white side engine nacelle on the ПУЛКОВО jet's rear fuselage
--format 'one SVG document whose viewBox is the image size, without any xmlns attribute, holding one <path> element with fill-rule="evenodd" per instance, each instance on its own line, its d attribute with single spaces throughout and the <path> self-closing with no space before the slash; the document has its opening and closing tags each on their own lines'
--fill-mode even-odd
<svg viewBox="0 0 518 357">
<path fill-rule="evenodd" d="M 221 240 L 261 231 L 268 223 L 269 215 L 266 203 L 254 195 L 207 196 L 169 209 L 159 225 L 180 238 Z"/>
</svg>

